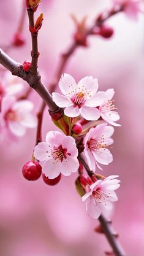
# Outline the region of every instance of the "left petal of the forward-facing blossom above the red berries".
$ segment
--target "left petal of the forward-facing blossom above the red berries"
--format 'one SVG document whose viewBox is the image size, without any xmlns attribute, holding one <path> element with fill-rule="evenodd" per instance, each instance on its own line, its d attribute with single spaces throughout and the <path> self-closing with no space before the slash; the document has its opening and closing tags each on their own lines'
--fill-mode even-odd
<svg viewBox="0 0 144 256">
<path fill-rule="evenodd" d="M 39 142 L 34 148 L 34 157 L 40 161 L 51 159 L 50 149 L 50 144 L 47 142 Z"/>
</svg>

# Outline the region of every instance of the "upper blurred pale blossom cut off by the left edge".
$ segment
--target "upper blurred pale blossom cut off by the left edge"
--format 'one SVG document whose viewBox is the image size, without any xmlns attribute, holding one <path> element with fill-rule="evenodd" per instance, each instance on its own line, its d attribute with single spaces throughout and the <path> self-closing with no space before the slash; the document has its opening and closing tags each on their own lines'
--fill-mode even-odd
<svg viewBox="0 0 144 256">
<path fill-rule="evenodd" d="M 2 81 L 0 82 L 0 102 L 4 96 L 15 96 L 23 90 L 23 83 L 18 77 L 12 77 L 10 72 L 6 72 Z"/>
</svg>

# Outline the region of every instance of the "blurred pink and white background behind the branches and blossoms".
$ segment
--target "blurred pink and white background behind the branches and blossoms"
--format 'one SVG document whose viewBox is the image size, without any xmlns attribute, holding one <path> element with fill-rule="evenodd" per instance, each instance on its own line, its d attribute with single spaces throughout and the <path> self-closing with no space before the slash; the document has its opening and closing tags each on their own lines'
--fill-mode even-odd
<svg viewBox="0 0 144 256">
<path fill-rule="evenodd" d="M 74 23 L 88 16 L 91 24 L 107 0 L 43 0 L 37 11 L 44 12 L 39 33 L 39 69 L 46 83 L 53 77 L 60 53 L 72 40 Z M 12 40 L 20 17 L 22 0 L 0 2 L 0 45 Z M 89 48 L 79 48 L 69 60 L 66 72 L 76 80 L 84 76 L 99 79 L 99 90 L 115 89 L 115 103 L 121 128 L 115 128 L 113 163 L 102 174 L 118 174 L 121 187 L 113 211 L 113 227 L 127 256 L 143 256 L 143 15 L 132 21 L 124 14 L 108 20 L 115 29 L 112 39 L 89 37 Z M 25 47 L 10 50 L 15 60 L 30 58 L 31 39 L 26 17 Z M 30 96 L 40 106 L 39 96 Z M 56 129 L 45 111 L 43 138 Z M 94 233 L 98 221 L 86 215 L 85 205 L 75 191 L 77 174 L 64 177 L 50 187 L 42 179 L 28 182 L 21 168 L 31 159 L 36 130 L 29 130 L 17 142 L 1 143 L 0 158 L 0 255 L 1 256 L 104 256 L 110 246 L 103 235 Z"/>
</svg>

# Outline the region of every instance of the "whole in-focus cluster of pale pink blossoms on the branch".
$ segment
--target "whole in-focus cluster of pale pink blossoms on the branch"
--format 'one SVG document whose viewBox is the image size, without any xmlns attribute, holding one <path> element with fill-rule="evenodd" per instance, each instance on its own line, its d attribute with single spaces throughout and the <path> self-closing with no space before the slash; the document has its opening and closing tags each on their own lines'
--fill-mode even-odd
<svg viewBox="0 0 144 256">
<path fill-rule="evenodd" d="M 87 76 L 76 83 L 69 74 L 61 77 L 59 88 L 63 95 L 53 93 L 52 96 L 64 115 L 53 122 L 65 134 L 49 131 L 46 142 L 36 145 L 34 157 L 41 161 L 42 173 L 49 180 L 59 180 L 61 174 L 69 176 L 79 171 L 78 186 L 83 190 L 82 201 L 87 202 L 86 211 L 98 218 L 105 209 L 112 209 L 112 201 L 118 200 L 114 192 L 119 187 L 119 180 L 115 179 L 118 176 L 100 176 L 97 180 L 95 174 L 97 168 L 102 169 L 99 164 L 108 165 L 113 161 L 109 150 L 113 143 L 111 136 L 113 126 L 120 126 L 116 123 L 119 115 L 112 100 L 115 91 L 97 91 L 97 79 Z M 86 127 L 82 127 L 82 123 L 86 123 Z M 93 177 L 89 177 L 91 182 L 83 176 L 81 157 L 85 157 L 89 172 L 93 173 Z"/>
</svg>

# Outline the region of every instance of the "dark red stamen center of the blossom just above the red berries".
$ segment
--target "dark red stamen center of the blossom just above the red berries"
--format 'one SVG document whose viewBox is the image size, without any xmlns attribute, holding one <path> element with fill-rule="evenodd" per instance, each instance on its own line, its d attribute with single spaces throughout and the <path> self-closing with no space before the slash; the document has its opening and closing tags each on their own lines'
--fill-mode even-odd
<svg viewBox="0 0 144 256">
<path fill-rule="evenodd" d="M 59 147 L 53 147 L 53 151 L 51 153 L 53 158 L 56 161 L 61 161 L 61 163 L 67 158 L 67 155 L 71 155 L 70 153 L 67 153 L 67 149 L 63 148 L 62 145 L 59 145 Z"/>
</svg>

